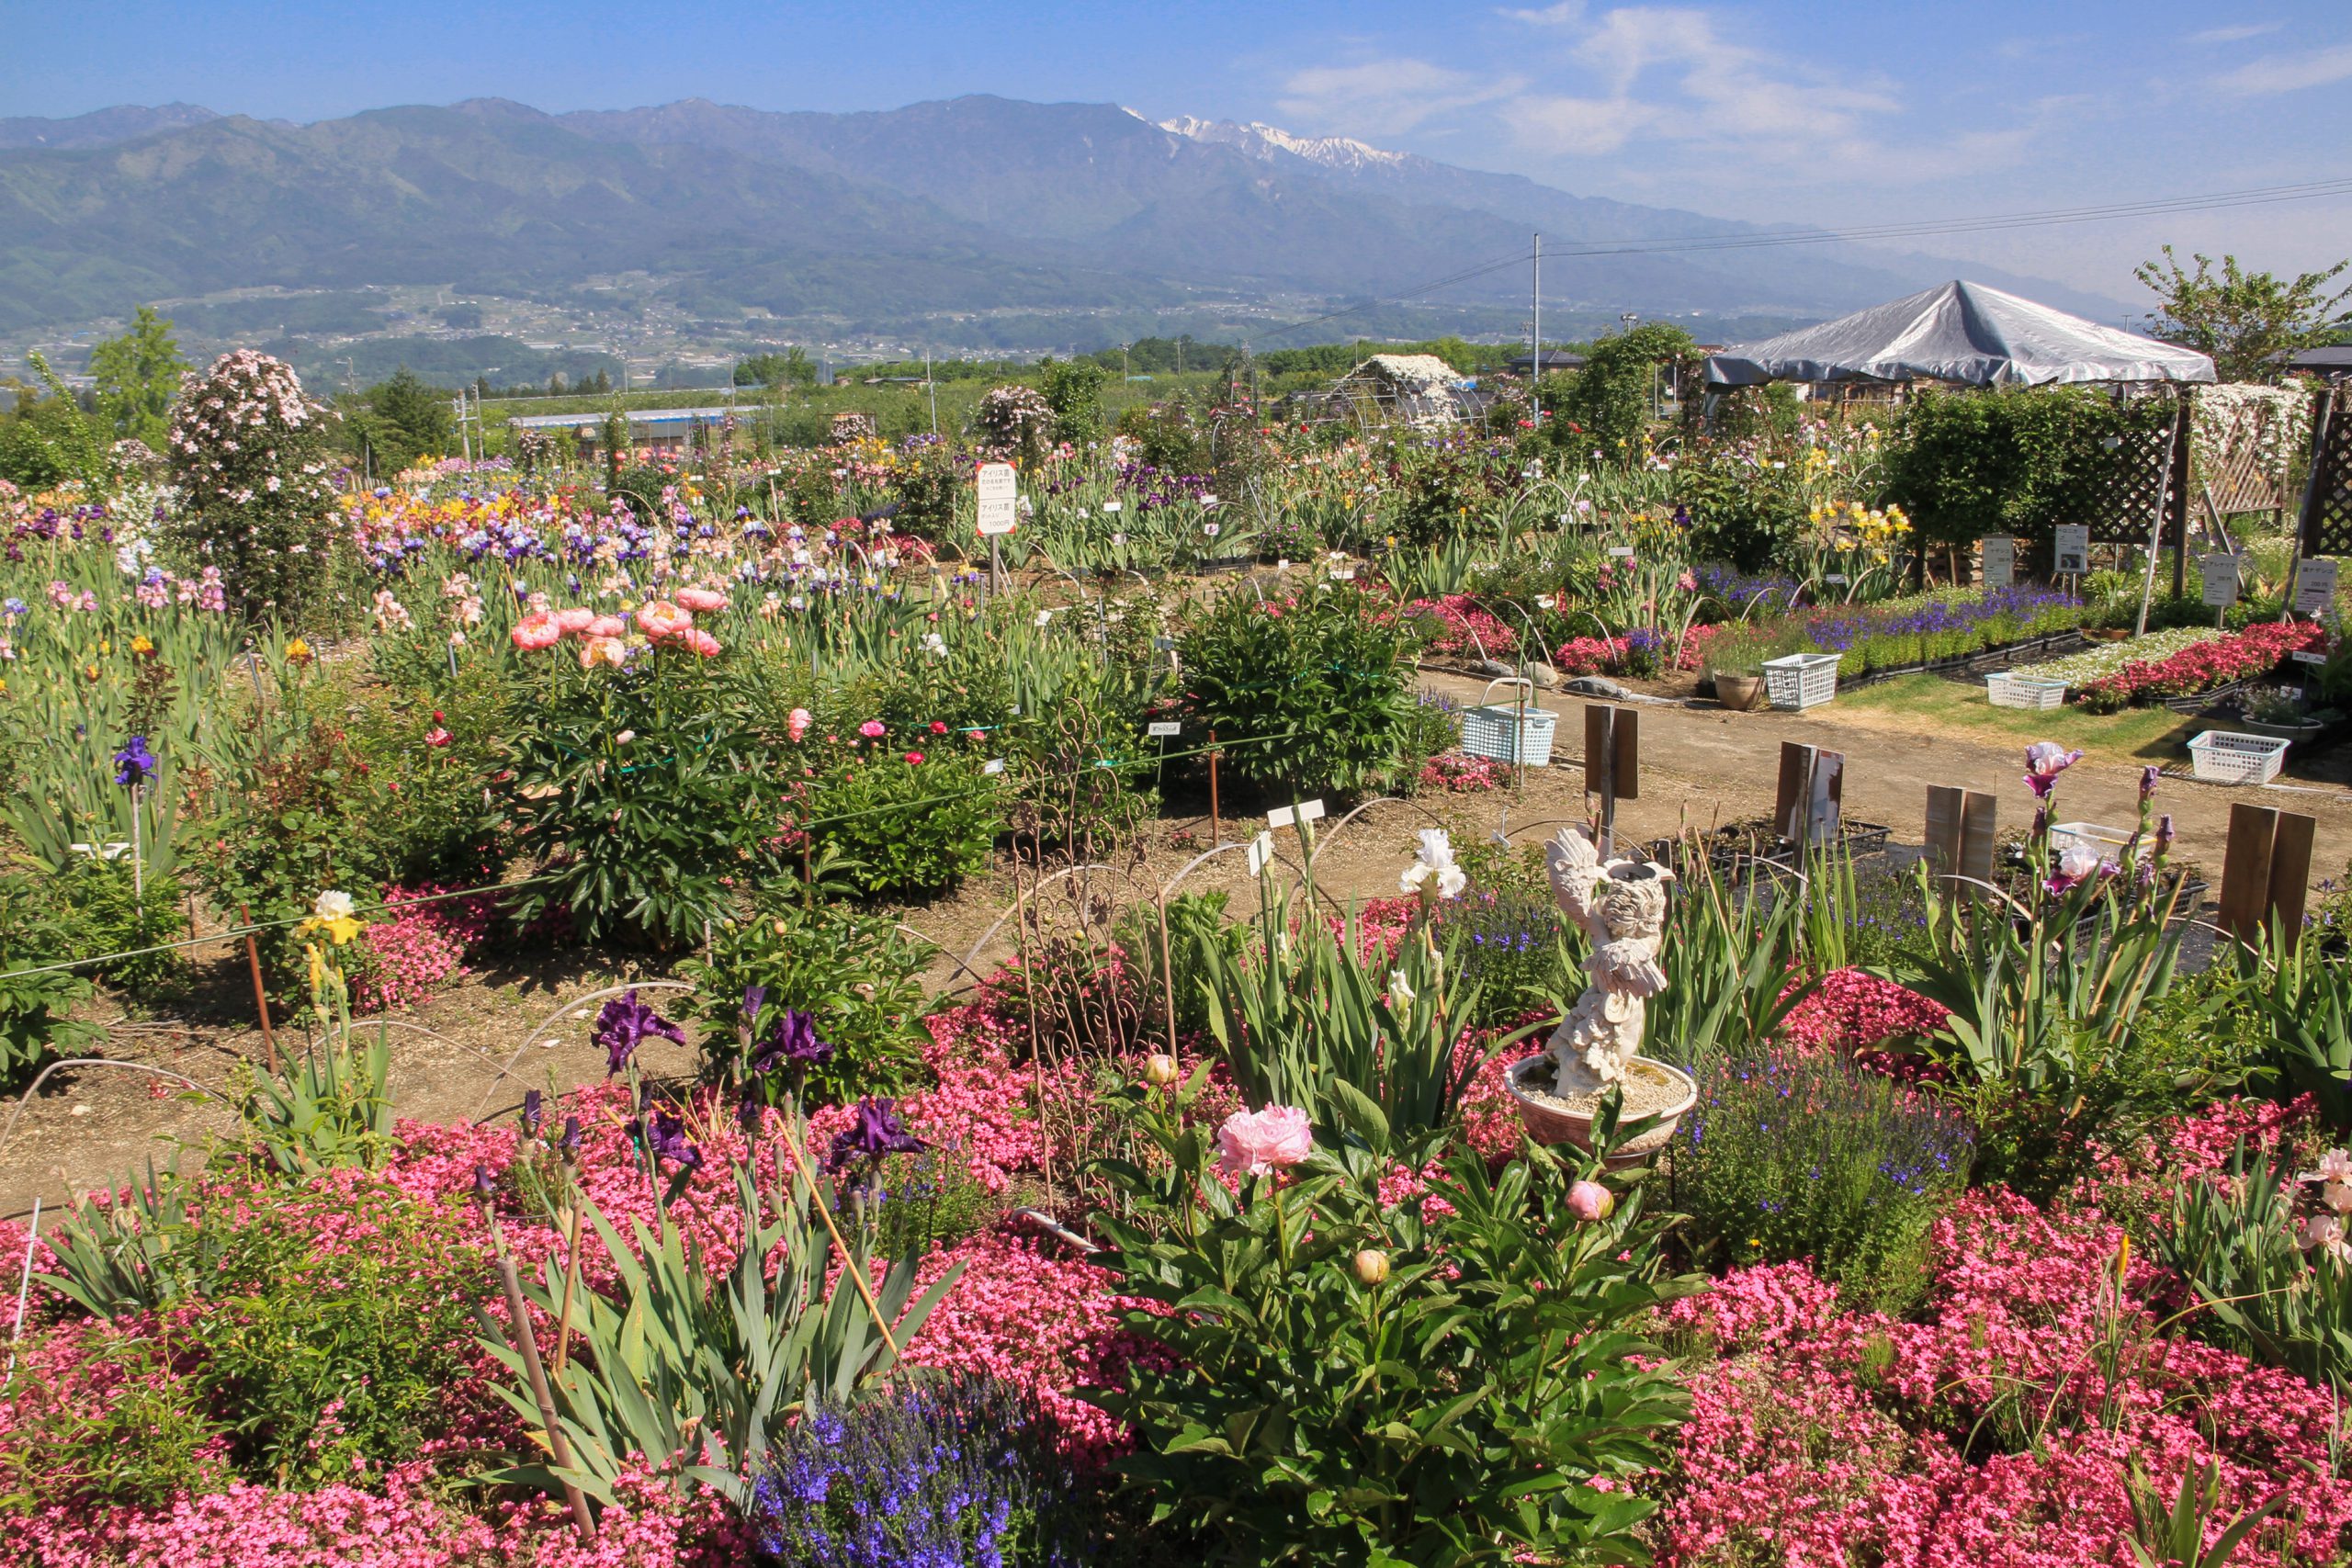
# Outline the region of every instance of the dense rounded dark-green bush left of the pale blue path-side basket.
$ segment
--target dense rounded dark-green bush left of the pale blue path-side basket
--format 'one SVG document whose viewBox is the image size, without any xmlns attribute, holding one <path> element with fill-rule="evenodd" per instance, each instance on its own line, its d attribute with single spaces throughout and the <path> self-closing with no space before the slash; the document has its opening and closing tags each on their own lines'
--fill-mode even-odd
<svg viewBox="0 0 2352 1568">
<path fill-rule="evenodd" d="M 1411 710 L 1411 632 L 1355 590 L 1258 604 L 1225 595 L 1185 628 L 1185 696 L 1263 795 L 1352 795 L 1395 771 Z M 1202 733 L 1207 743 L 1207 733 Z"/>
</svg>

